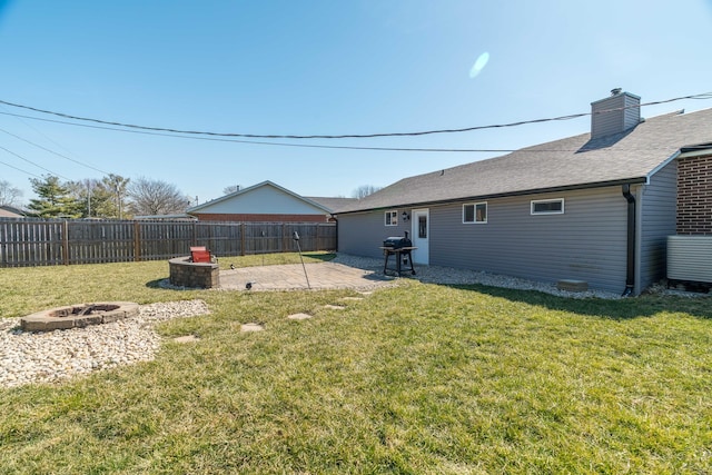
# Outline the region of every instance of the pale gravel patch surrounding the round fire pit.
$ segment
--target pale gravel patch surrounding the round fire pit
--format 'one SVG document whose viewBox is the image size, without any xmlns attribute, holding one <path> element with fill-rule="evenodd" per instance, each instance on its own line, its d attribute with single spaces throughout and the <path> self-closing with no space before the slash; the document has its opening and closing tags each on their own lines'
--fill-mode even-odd
<svg viewBox="0 0 712 475">
<path fill-rule="evenodd" d="M 0 387 L 50 383 L 154 359 L 161 337 L 154 324 L 209 314 L 202 300 L 141 305 L 136 317 L 55 331 L 22 331 L 20 318 L 0 320 Z"/>
</svg>

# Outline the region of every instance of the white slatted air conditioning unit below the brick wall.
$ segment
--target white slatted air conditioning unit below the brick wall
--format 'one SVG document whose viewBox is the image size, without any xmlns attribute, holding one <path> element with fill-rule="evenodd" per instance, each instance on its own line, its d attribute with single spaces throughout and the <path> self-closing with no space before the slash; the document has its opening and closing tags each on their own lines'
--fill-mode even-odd
<svg viewBox="0 0 712 475">
<path fill-rule="evenodd" d="M 668 278 L 712 283 L 712 236 L 669 236 Z"/>
</svg>

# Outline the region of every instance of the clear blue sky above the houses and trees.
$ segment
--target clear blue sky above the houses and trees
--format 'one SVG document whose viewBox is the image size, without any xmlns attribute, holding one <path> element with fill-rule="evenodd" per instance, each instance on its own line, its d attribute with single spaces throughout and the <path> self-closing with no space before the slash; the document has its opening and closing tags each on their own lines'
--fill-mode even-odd
<svg viewBox="0 0 712 475">
<path fill-rule="evenodd" d="M 466 128 L 587 112 L 616 87 L 642 102 L 710 92 L 710 31 L 712 0 L 0 0 L 0 100 L 214 132 Z M 488 61 L 471 75 L 483 53 Z M 642 115 L 709 107 L 686 100 Z M 0 180 L 22 189 L 24 201 L 33 197 L 29 178 L 49 172 L 160 179 L 205 202 L 229 185 L 264 180 L 305 196 L 350 196 L 360 185 L 502 155 L 194 140 L 12 115 L 67 120 L 0 106 Z M 425 137 L 258 141 L 516 149 L 589 127 L 581 118 Z"/>
</svg>

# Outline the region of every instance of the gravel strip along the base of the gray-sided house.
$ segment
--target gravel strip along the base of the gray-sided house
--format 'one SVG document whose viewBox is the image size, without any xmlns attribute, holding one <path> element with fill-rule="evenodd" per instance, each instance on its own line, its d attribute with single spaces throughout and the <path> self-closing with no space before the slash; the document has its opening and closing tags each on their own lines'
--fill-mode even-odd
<svg viewBox="0 0 712 475">
<path fill-rule="evenodd" d="M 338 254 L 333 260 L 345 266 L 356 267 L 364 270 L 383 271 L 383 259 L 375 259 L 370 257 L 350 256 L 346 254 Z M 614 294 L 603 290 L 586 290 L 586 291 L 566 291 L 556 288 L 555 284 L 546 284 L 536 280 L 522 279 L 518 277 L 502 276 L 498 274 L 490 274 L 477 270 L 455 269 L 452 267 L 439 266 L 415 266 L 416 275 L 411 276 L 404 273 L 404 278 L 414 278 L 422 283 L 428 284 L 451 284 L 451 285 L 465 285 L 465 284 L 483 284 L 493 287 L 515 288 L 521 290 L 538 290 L 546 294 L 553 294 L 561 297 L 570 298 L 606 298 L 617 299 L 621 298 L 620 294 Z"/>
</svg>

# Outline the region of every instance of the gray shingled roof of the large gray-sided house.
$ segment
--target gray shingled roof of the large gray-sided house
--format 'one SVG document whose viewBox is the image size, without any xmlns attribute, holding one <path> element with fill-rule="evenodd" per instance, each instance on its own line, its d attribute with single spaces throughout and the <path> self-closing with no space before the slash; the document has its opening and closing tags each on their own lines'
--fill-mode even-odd
<svg viewBox="0 0 712 475">
<path fill-rule="evenodd" d="M 404 178 L 342 212 L 646 182 L 683 147 L 712 141 L 712 109 L 678 111 L 622 133 L 568 137 L 512 154 Z"/>
</svg>

